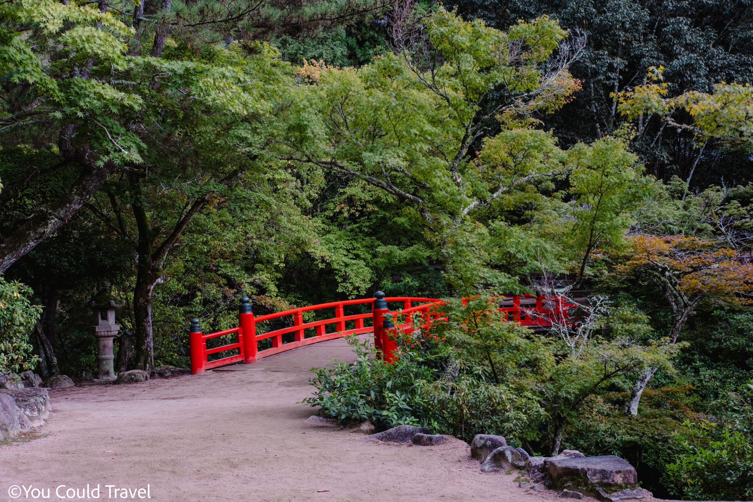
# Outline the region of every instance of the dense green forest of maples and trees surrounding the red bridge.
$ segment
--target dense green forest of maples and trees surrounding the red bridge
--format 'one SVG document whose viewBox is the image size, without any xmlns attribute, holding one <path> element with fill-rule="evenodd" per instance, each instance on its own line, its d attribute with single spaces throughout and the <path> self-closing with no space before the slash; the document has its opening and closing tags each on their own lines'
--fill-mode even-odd
<svg viewBox="0 0 753 502">
<path fill-rule="evenodd" d="M 749 0 L 0 2 L 0 370 L 90 378 L 102 291 L 119 372 L 242 296 L 443 298 L 311 402 L 751 500 L 751 82 Z"/>
</svg>

